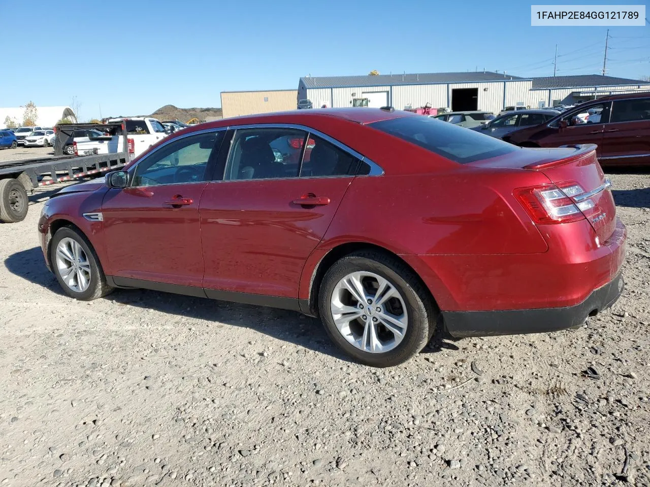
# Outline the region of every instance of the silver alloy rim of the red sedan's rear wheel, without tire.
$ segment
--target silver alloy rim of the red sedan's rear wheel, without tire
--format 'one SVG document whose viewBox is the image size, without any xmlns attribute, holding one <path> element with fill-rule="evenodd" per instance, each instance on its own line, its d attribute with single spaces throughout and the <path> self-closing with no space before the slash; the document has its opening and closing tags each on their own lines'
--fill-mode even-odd
<svg viewBox="0 0 650 487">
<path fill-rule="evenodd" d="M 349 343 L 368 353 L 384 353 L 402 342 L 408 327 L 404 298 L 382 276 L 357 271 L 339 281 L 331 294 L 333 321 Z"/>
</svg>

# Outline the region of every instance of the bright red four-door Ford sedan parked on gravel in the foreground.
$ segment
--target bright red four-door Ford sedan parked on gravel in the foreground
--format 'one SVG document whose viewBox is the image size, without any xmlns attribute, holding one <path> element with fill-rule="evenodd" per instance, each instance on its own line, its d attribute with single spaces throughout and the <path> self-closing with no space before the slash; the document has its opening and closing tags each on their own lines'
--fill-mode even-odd
<svg viewBox="0 0 650 487">
<path fill-rule="evenodd" d="M 272 149 L 295 138 L 298 156 Z M 435 327 L 547 332 L 611 305 L 626 231 L 609 186 L 593 145 L 524 149 L 392 108 L 299 110 L 165 138 L 49 199 L 38 231 L 77 299 L 148 288 L 287 308 L 392 366 Z"/>
</svg>

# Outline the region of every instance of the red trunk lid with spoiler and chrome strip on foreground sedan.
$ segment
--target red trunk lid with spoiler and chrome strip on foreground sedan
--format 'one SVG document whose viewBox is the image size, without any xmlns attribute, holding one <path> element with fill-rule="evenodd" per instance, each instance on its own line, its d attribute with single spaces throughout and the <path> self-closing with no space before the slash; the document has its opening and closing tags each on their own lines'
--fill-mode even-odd
<svg viewBox="0 0 650 487">
<path fill-rule="evenodd" d="M 616 205 L 610 190 L 611 183 L 598 163 L 595 144 L 559 149 L 522 148 L 521 151 L 472 165 L 539 171 L 580 208 L 599 242 L 605 242 L 616 228 Z M 579 191 L 576 186 L 580 186 Z"/>
</svg>

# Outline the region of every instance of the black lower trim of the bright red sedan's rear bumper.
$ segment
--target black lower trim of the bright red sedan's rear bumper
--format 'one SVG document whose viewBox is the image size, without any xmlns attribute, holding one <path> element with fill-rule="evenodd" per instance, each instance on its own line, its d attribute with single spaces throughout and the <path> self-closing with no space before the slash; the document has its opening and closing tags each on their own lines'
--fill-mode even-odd
<svg viewBox="0 0 650 487">
<path fill-rule="evenodd" d="M 562 308 L 503 311 L 443 311 L 448 332 L 456 337 L 543 333 L 581 325 L 590 314 L 612 306 L 623 292 L 619 273 L 582 303 Z"/>
</svg>

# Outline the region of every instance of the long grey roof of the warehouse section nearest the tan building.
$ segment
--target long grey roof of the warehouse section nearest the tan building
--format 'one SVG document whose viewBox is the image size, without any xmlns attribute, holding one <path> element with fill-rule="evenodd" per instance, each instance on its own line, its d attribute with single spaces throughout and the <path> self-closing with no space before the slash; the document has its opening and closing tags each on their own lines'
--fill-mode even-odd
<svg viewBox="0 0 650 487">
<path fill-rule="evenodd" d="M 391 86 L 395 84 L 447 84 L 481 81 L 525 81 L 530 78 L 493 73 L 491 71 L 467 71 L 461 73 L 409 73 L 365 76 L 302 77 L 307 88 L 346 88 L 355 86 Z"/>
</svg>

